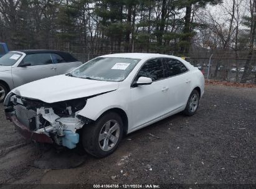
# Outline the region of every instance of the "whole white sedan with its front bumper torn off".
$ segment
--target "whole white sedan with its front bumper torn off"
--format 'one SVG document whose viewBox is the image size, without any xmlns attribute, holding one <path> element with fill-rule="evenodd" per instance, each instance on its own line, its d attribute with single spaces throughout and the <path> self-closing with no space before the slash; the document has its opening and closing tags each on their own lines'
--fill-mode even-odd
<svg viewBox="0 0 256 189">
<path fill-rule="evenodd" d="M 124 134 L 181 111 L 192 116 L 203 94 L 201 71 L 179 57 L 120 53 L 19 86 L 4 106 L 23 136 L 69 149 L 82 142 L 105 157 Z"/>
</svg>

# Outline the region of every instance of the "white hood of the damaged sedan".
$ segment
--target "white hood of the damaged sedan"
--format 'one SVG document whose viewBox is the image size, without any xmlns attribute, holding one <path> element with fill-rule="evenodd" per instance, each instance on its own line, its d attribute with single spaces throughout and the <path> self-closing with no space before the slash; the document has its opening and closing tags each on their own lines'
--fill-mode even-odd
<svg viewBox="0 0 256 189">
<path fill-rule="evenodd" d="M 39 99 L 45 103 L 55 103 L 106 93 L 117 88 L 118 82 L 58 75 L 19 86 L 12 90 L 12 93 L 26 98 Z"/>
</svg>

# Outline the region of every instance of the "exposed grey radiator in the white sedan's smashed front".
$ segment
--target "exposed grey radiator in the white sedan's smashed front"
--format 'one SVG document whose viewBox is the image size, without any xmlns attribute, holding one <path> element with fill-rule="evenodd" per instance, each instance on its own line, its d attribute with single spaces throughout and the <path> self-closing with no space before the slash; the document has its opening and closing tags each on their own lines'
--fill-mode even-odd
<svg viewBox="0 0 256 189">
<path fill-rule="evenodd" d="M 35 127 L 36 122 L 35 122 L 35 116 L 36 116 L 36 111 L 33 111 L 31 109 L 27 109 L 26 107 L 17 104 L 14 106 L 15 109 L 15 114 L 19 122 L 24 124 L 27 128 L 32 130 L 32 127 Z"/>
</svg>

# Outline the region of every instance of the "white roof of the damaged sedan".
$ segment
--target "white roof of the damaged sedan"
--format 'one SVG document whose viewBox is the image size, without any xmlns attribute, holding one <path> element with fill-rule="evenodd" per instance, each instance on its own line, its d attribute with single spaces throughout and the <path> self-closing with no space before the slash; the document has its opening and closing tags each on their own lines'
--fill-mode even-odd
<svg viewBox="0 0 256 189">
<path fill-rule="evenodd" d="M 179 57 L 174 57 L 171 55 L 163 55 L 163 54 L 158 54 L 158 53 L 115 53 L 115 54 L 110 54 L 110 55 L 103 55 L 101 57 L 120 57 L 120 58 L 139 58 L 139 59 L 144 59 L 144 58 L 154 58 L 154 57 L 173 57 L 173 58 L 179 58 Z"/>
</svg>

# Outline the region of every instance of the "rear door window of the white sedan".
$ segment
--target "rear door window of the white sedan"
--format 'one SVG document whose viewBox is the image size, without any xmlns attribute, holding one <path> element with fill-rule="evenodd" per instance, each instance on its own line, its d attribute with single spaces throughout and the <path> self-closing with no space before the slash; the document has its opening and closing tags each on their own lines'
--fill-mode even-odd
<svg viewBox="0 0 256 189">
<path fill-rule="evenodd" d="M 179 75 L 187 71 L 187 68 L 183 63 L 172 58 L 164 58 L 164 65 L 164 76 L 166 78 L 169 76 Z"/>
</svg>

